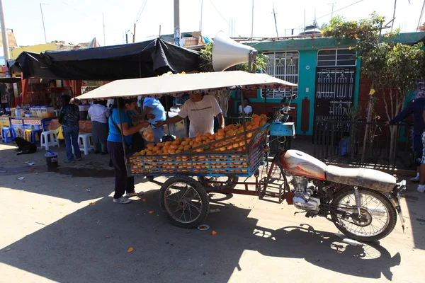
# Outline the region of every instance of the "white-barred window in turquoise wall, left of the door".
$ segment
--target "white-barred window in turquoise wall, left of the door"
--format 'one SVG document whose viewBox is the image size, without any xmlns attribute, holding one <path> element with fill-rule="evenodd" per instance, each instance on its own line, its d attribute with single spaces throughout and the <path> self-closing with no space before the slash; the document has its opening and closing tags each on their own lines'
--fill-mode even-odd
<svg viewBox="0 0 425 283">
<path fill-rule="evenodd" d="M 298 84 L 300 54 L 293 52 L 264 53 L 268 56 L 266 61 L 266 74 L 275 78 Z M 267 98 L 284 98 L 298 93 L 298 88 L 263 89 L 261 96 Z"/>
</svg>

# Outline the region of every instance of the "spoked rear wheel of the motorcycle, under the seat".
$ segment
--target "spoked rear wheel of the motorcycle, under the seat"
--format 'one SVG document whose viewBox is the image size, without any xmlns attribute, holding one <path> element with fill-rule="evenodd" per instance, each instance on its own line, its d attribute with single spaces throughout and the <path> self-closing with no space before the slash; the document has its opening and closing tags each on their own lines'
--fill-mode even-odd
<svg viewBox="0 0 425 283">
<path fill-rule="evenodd" d="M 344 217 L 341 214 L 331 214 L 332 220 L 336 222 L 336 228 L 357 241 L 375 241 L 385 238 L 397 223 L 395 207 L 380 192 L 359 188 L 358 193 L 361 199 L 360 216 L 353 189 L 336 193 L 331 205 L 356 215 Z"/>
</svg>

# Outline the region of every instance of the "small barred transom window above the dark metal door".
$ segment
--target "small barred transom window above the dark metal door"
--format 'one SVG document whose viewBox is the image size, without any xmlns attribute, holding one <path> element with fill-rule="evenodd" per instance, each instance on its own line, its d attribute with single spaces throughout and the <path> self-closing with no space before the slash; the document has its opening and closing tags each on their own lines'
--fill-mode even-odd
<svg viewBox="0 0 425 283">
<path fill-rule="evenodd" d="M 356 51 L 348 49 L 319 50 L 317 67 L 356 66 Z"/>
</svg>

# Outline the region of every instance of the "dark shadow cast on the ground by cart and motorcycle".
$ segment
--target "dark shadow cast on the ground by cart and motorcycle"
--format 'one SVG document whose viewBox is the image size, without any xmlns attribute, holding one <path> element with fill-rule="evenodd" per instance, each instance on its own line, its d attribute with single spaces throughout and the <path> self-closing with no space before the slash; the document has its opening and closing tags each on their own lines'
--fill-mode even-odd
<svg viewBox="0 0 425 283">
<path fill-rule="evenodd" d="M 391 268 L 401 260 L 378 243 L 347 246 L 333 233 L 311 226 L 267 230 L 248 217 L 251 209 L 232 204 L 220 204 L 221 212 L 208 216 L 217 236 L 211 230 L 179 229 L 159 212 L 158 193 L 145 192 L 147 202 L 127 205 L 113 204 L 111 197 L 98 200 L 0 250 L 0 262 L 57 282 L 183 282 L 187 275 L 191 282 L 227 282 L 241 270 L 244 250 L 304 259 L 364 278 L 383 274 L 391 279 Z M 276 272 L 288 270 L 283 266 Z"/>
</svg>

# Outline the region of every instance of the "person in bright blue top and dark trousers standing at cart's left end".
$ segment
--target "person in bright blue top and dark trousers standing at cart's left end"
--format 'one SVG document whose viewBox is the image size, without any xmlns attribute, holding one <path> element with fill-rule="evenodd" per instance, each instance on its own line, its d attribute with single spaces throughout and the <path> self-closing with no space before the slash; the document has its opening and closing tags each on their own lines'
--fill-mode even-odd
<svg viewBox="0 0 425 283">
<path fill-rule="evenodd" d="M 130 146 L 132 144 L 132 135 L 140 129 L 148 127 L 149 122 L 144 121 L 139 125 L 132 125 L 132 116 L 134 115 L 132 111 L 136 108 L 137 98 L 118 98 L 118 100 L 120 108 L 113 108 L 111 117 L 109 117 L 109 135 L 107 143 L 113 168 L 115 169 L 115 194 L 113 195 L 113 202 L 127 204 L 131 202 L 128 197 L 139 196 L 142 195 L 143 192 L 135 191 L 135 179 L 127 175 L 121 132 L 123 133 L 125 143 Z M 115 103 L 114 106 L 116 105 L 118 105 L 118 103 Z M 127 192 L 127 194 L 123 197 L 125 192 Z"/>
</svg>

